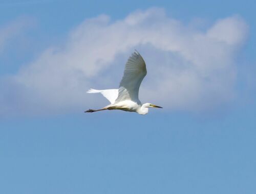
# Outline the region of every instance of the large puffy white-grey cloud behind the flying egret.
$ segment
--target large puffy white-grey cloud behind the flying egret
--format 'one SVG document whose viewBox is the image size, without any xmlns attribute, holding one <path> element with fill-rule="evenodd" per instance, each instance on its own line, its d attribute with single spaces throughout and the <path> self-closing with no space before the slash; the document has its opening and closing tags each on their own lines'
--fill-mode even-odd
<svg viewBox="0 0 256 194">
<path fill-rule="evenodd" d="M 177 110 L 216 107 L 233 98 L 234 59 L 246 35 L 247 25 L 238 16 L 220 19 L 200 31 L 158 8 L 116 21 L 100 15 L 70 32 L 64 46 L 48 48 L 4 79 L 2 83 L 11 89 L 0 103 L 6 111 L 19 107 L 19 111 L 37 113 L 103 106 L 103 97 L 86 94 L 86 90 L 117 88 L 124 64 L 136 48 L 148 69 L 140 90 L 142 102 Z"/>
</svg>

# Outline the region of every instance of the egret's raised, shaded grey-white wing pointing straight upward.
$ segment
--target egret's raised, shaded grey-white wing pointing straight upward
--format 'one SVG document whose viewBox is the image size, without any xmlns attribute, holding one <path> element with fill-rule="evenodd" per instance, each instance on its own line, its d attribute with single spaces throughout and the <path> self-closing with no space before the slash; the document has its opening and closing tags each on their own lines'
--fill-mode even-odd
<svg viewBox="0 0 256 194">
<path fill-rule="evenodd" d="M 130 56 L 125 64 L 123 78 L 118 89 L 118 97 L 115 102 L 124 100 L 139 101 L 139 88 L 146 76 L 146 64 L 138 51 Z"/>
</svg>

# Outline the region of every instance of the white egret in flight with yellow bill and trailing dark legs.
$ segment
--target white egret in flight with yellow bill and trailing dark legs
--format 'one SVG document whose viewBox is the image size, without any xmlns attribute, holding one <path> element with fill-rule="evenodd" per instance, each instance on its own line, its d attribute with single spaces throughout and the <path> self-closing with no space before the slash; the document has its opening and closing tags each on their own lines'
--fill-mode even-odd
<svg viewBox="0 0 256 194">
<path fill-rule="evenodd" d="M 90 89 L 87 91 L 87 93 L 101 93 L 111 104 L 102 109 L 89 109 L 85 112 L 118 109 L 137 112 L 139 114 L 147 114 L 148 108 L 162 108 L 151 103 L 141 104 L 139 100 L 139 87 L 145 76 L 146 64 L 138 51 L 135 50 L 125 64 L 123 78 L 120 82 L 119 89 Z"/>
</svg>

